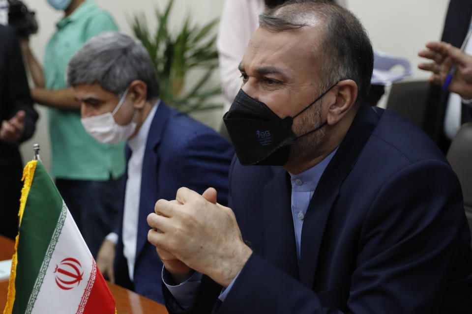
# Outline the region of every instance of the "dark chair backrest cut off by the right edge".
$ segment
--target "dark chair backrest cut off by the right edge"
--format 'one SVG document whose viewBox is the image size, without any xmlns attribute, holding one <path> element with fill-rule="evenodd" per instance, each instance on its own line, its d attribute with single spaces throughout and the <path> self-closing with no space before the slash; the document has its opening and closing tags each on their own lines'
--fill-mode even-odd
<svg viewBox="0 0 472 314">
<path fill-rule="evenodd" d="M 457 132 L 447 152 L 447 160 L 461 181 L 464 208 L 472 232 L 472 122 Z"/>
</svg>

